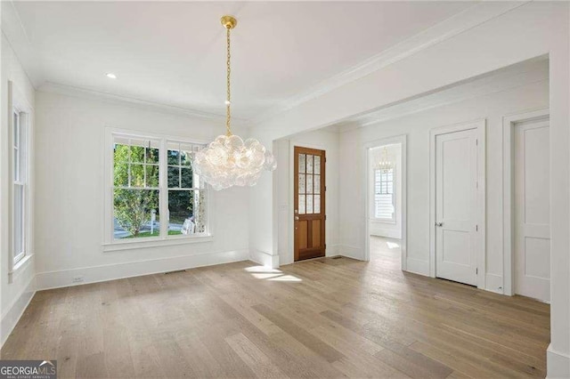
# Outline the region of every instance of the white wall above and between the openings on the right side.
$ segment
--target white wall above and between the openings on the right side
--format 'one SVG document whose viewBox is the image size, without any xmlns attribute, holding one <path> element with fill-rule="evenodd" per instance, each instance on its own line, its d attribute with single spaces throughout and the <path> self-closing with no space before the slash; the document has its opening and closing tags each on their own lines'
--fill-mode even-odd
<svg viewBox="0 0 570 379">
<path fill-rule="evenodd" d="M 362 151 L 369 141 L 403 133 L 408 135 L 408 270 L 429 275 L 429 130 L 486 118 L 486 288 L 502 293 L 502 117 L 548 106 L 549 84 L 542 81 L 342 133 L 341 151 Z M 341 165 L 341 171 L 350 169 L 364 173 L 362 154 L 344 154 Z M 362 183 L 362 180 L 355 182 Z M 354 197 L 352 206 L 341 207 L 340 219 L 352 225 L 341 233 L 341 244 L 363 249 L 361 198 L 365 191 L 358 187 L 362 186 L 346 185 L 346 181 L 340 184 L 340 198 L 349 193 Z"/>
</svg>

